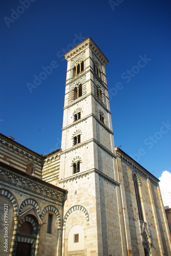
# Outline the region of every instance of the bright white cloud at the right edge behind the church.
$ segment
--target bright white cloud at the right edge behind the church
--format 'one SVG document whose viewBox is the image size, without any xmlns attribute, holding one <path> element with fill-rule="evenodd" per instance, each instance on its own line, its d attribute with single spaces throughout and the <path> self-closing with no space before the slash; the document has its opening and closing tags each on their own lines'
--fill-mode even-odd
<svg viewBox="0 0 171 256">
<path fill-rule="evenodd" d="M 167 170 L 164 170 L 159 180 L 163 204 L 164 206 L 168 205 L 171 207 L 171 173 L 169 173 Z"/>
</svg>

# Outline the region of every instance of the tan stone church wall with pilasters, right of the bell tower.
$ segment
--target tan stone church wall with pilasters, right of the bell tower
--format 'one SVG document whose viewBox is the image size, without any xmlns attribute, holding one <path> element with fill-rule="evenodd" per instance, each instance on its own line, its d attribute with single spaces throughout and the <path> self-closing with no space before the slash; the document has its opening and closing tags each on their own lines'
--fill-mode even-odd
<svg viewBox="0 0 171 256">
<path fill-rule="evenodd" d="M 133 181 L 135 174 L 138 180 L 144 223 L 149 224 L 149 231 L 146 229 L 146 236 L 149 236 L 148 242 L 152 243 L 149 251 L 156 256 L 169 255 L 170 239 L 158 180 L 120 150 L 117 151 L 117 162 L 129 254 L 142 253 L 143 255 L 144 253 Z"/>
</svg>

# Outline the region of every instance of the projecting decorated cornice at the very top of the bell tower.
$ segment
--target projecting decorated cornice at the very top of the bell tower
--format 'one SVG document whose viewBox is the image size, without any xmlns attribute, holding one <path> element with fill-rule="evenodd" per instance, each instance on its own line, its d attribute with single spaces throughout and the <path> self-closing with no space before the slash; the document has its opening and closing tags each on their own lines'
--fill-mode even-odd
<svg viewBox="0 0 171 256">
<path fill-rule="evenodd" d="M 92 50 L 96 50 L 97 52 L 99 52 L 99 55 L 100 55 L 99 57 L 101 58 L 101 60 L 103 59 L 103 63 L 106 66 L 106 64 L 109 62 L 109 60 L 106 58 L 106 56 L 103 54 L 103 52 L 100 50 L 100 48 L 95 44 L 95 42 L 92 40 L 92 38 L 90 36 L 87 37 L 82 42 L 80 42 L 77 46 L 75 46 L 74 48 L 72 48 L 71 50 L 66 52 L 63 56 L 65 57 L 66 60 L 71 58 L 72 56 L 74 56 L 75 54 L 77 54 L 79 52 L 78 48 L 83 48 L 83 47 L 85 47 L 86 44 L 87 45 L 89 44 L 89 46 Z M 98 56 L 98 54 L 97 54 L 97 56 Z"/>
</svg>

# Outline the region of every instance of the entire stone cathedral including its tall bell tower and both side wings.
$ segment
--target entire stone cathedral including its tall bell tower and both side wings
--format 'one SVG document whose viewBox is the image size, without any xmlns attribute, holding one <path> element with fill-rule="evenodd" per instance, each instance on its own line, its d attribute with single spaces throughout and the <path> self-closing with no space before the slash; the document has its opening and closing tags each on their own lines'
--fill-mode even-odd
<svg viewBox="0 0 171 256">
<path fill-rule="evenodd" d="M 159 180 L 114 146 L 108 59 L 90 37 L 64 57 L 61 150 L 42 156 L 0 136 L 1 252 L 170 255 Z"/>
</svg>

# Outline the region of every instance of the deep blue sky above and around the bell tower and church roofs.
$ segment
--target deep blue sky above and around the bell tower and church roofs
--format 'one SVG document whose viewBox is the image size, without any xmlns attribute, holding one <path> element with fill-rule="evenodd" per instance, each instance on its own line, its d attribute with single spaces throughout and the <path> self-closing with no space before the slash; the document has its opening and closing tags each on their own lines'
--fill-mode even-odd
<svg viewBox="0 0 171 256">
<path fill-rule="evenodd" d="M 157 178 L 171 172 L 170 7 L 158 0 L 2 0 L 0 132 L 39 154 L 61 146 L 62 55 L 90 36 L 109 60 L 115 146 Z"/>
</svg>

